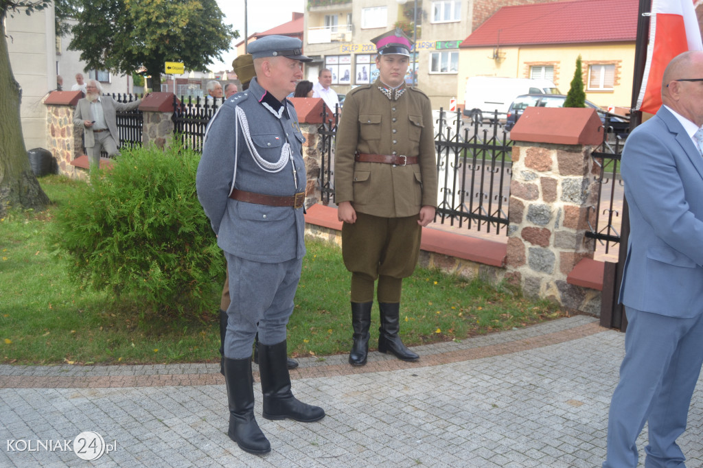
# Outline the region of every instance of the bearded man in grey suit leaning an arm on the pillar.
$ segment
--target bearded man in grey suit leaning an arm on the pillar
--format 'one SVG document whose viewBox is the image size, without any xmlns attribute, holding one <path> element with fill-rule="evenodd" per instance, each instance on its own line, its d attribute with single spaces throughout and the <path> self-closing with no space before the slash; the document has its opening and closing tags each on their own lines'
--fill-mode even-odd
<svg viewBox="0 0 703 468">
<path fill-rule="evenodd" d="M 91 79 L 86 84 L 86 97 L 78 101 L 73 114 L 73 123 L 83 128 L 90 167 L 99 167 L 100 153 L 103 150 L 108 156 L 120 153 L 117 150 L 120 133 L 117 131 L 116 113 L 118 110 L 136 109 L 141 104 L 141 99 L 131 103 L 117 103 L 110 96 L 101 96 L 102 91 L 100 82 Z"/>
</svg>

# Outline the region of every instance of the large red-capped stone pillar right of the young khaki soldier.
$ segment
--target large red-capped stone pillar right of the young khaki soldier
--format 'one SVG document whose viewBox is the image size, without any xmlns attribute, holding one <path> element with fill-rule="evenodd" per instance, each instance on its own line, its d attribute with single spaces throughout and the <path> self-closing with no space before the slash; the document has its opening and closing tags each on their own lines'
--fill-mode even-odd
<svg viewBox="0 0 703 468">
<path fill-rule="evenodd" d="M 576 310 L 598 294 L 569 285 L 567 275 L 595 250 L 586 231 L 595 222 L 588 207 L 598 201 L 591 151 L 602 142 L 600 126 L 593 109 L 527 108 L 510 132 L 505 278 L 530 297 Z"/>
</svg>

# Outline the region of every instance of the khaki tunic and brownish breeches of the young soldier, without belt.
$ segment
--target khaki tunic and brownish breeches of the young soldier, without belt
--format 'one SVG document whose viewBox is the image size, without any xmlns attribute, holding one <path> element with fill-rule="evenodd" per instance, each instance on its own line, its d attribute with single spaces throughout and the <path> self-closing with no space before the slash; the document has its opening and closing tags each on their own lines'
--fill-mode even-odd
<svg viewBox="0 0 703 468">
<path fill-rule="evenodd" d="M 378 300 L 400 301 L 401 279 L 418 261 L 420 208 L 437 207 L 430 99 L 403 85 L 391 100 L 379 86 L 377 80 L 347 94 L 337 127 L 335 202 L 352 202 L 357 214 L 356 223 L 342 226 L 352 302 L 373 301 L 379 277 Z M 418 157 L 418 164 L 355 162 L 355 152 Z"/>
</svg>

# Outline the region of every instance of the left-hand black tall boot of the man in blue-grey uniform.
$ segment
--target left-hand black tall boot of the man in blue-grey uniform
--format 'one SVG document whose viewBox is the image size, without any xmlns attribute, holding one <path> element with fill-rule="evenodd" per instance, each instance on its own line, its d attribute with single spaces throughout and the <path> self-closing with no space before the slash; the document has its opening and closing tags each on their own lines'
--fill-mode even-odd
<svg viewBox="0 0 703 468">
<path fill-rule="evenodd" d="M 254 419 L 254 388 L 251 359 L 224 360 L 227 384 L 229 429 L 227 435 L 245 452 L 262 455 L 271 451 L 271 443 Z"/>
</svg>

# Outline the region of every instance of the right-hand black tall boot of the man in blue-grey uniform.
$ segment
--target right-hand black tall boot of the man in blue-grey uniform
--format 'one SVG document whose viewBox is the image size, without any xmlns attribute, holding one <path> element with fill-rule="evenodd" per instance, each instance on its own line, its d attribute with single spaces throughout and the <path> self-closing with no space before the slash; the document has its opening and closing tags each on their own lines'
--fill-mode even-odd
<svg viewBox="0 0 703 468">
<path fill-rule="evenodd" d="M 325 417 L 325 410 L 298 401 L 290 391 L 290 375 L 286 366 L 285 340 L 266 346 L 259 343 L 259 376 L 264 394 L 264 417 L 267 420 L 288 419 L 315 422 Z"/>
</svg>

